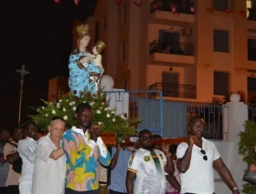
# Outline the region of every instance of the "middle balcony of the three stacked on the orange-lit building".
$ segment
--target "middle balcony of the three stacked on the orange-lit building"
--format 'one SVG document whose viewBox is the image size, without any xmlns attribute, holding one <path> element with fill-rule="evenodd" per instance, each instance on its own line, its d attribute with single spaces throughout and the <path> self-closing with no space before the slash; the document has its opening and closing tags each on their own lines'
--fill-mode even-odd
<svg viewBox="0 0 256 194">
<path fill-rule="evenodd" d="M 191 43 L 167 43 L 154 40 L 149 45 L 148 63 L 164 66 L 194 65 L 194 45 Z"/>
</svg>

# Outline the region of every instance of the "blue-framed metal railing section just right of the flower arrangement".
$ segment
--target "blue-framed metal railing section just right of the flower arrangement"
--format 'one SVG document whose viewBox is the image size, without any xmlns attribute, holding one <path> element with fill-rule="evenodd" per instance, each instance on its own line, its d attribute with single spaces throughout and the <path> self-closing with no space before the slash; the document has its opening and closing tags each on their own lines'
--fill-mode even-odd
<svg viewBox="0 0 256 194">
<path fill-rule="evenodd" d="M 127 114 L 144 120 L 136 125 L 138 131 L 149 129 L 163 135 L 162 91 L 107 91 L 107 100 L 116 109 L 117 115 Z M 158 97 L 155 100 L 155 97 Z M 127 108 L 126 108 L 127 107 Z"/>
</svg>

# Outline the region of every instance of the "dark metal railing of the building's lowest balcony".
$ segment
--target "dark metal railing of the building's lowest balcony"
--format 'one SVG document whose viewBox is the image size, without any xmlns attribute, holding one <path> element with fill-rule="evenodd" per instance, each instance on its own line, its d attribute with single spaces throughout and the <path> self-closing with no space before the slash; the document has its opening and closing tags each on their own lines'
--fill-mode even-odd
<svg viewBox="0 0 256 194">
<path fill-rule="evenodd" d="M 193 85 L 155 83 L 148 87 L 149 90 L 163 92 L 163 97 L 197 98 L 197 87 Z"/>
</svg>

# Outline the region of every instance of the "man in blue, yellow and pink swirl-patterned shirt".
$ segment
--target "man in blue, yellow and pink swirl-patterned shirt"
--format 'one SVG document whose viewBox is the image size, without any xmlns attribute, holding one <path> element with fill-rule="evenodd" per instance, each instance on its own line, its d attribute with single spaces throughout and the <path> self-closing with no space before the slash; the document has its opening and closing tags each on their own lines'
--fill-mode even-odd
<svg viewBox="0 0 256 194">
<path fill-rule="evenodd" d="M 65 194 L 101 194 L 98 160 L 103 166 L 109 166 L 111 155 L 100 137 L 100 126 L 97 126 L 98 130 L 91 126 L 91 106 L 88 103 L 80 104 L 75 117 L 77 127 L 63 135 L 62 148 L 67 157 Z"/>
</svg>

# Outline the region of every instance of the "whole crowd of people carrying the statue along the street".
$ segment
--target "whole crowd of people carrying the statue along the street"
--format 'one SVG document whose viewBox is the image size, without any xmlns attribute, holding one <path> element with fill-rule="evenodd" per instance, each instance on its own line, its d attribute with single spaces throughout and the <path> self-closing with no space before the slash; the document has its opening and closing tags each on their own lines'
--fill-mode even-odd
<svg viewBox="0 0 256 194">
<path fill-rule="evenodd" d="M 52 117 L 42 138 L 34 121 L 15 128 L 11 136 L 1 130 L 1 194 L 214 194 L 214 169 L 232 193 L 240 194 L 218 149 L 203 138 L 200 117 L 188 127 L 196 142 L 189 136 L 178 146 L 159 147 L 154 142 L 162 137 L 144 129 L 136 146 L 117 143 L 109 151 L 101 127 L 92 128 L 91 106 L 82 103 L 75 112 L 76 127 L 65 130 L 63 118 Z M 111 170 L 107 187 L 100 181 L 101 167 Z"/>
</svg>

